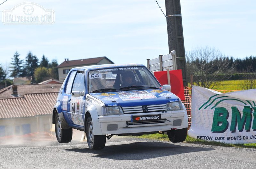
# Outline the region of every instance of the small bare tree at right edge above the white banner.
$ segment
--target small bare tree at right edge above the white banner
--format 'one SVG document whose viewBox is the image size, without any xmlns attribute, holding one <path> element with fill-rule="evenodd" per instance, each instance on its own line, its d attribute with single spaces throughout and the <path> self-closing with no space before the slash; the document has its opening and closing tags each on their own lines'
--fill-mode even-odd
<svg viewBox="0 0 256 169">
<path fill-rule="evenodd" d="M 246 68 L 244 79 L 241 83 L 243 89 L 255 89 L 256 88 L 256 72 L 252 70 L 252 66 Z"/>
</svg>

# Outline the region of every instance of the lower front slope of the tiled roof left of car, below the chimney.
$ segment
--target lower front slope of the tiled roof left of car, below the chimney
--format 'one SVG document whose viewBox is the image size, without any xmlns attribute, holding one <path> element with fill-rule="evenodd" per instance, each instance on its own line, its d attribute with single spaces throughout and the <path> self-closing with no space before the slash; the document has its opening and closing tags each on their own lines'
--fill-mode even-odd
<svg viewBox="0 0 256 169">
<path fill-rule="evenodd" d="M 0 119 L 51 114 L 58 92 L 25 94 L 22 98 L 0 99 Z"/>
</svg>

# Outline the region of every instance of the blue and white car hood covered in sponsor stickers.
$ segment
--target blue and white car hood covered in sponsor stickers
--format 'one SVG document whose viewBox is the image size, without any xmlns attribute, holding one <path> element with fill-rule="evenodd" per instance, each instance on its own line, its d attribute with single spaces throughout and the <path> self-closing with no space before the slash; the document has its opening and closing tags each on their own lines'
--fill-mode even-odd
<svg viewBox="0 0 256 169">
<path fill-rule="evenodd" d="M 180 100 L 175 94 L 164 89 L 90 93 L 90 95 L 101 100 L 106 106 L 122 107 L 166 104 Z"/>
</svg>

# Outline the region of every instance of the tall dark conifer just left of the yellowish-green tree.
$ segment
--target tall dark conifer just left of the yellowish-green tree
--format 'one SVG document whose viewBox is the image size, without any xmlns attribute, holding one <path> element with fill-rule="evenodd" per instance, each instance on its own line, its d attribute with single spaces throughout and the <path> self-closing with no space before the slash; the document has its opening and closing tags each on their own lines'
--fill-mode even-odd
<svg viewBox="0 0 256 169">
<path fill-rule="evenodd" d="M 25 76 L 33 76 L 35 69 L 38 67 L 38 59 L 31 52 L 27 53 L 25 62 Z"/>
</svg>

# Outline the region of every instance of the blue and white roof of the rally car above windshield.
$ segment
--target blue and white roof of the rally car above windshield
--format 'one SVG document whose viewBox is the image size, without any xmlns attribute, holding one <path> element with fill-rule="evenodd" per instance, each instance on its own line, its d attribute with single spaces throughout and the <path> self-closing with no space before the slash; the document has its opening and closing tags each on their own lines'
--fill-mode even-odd
<svg viewBox="0 0 256 169">
<path fill-rule="evenodd" d="M 90 65 L 90 66 L 81 66 L 72 68 L 71 70 L 80 69 L 80 70 L 96 70 L 96 69 L 104 69 L 104 68 L 115 68 L 115 67 L 131 67 L 131 66 L 144 66 L 143 64 L 102 64 L 102 65 Z M 145 66 L 144 66 L 145 67 Z"/>
</svg>

